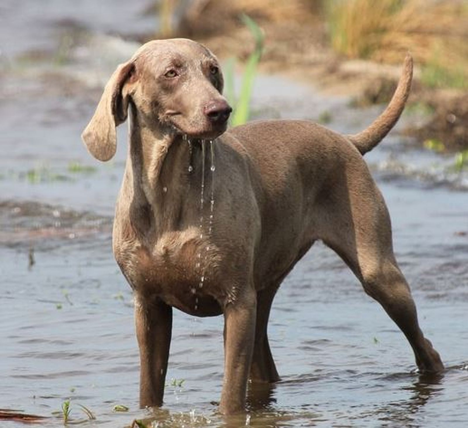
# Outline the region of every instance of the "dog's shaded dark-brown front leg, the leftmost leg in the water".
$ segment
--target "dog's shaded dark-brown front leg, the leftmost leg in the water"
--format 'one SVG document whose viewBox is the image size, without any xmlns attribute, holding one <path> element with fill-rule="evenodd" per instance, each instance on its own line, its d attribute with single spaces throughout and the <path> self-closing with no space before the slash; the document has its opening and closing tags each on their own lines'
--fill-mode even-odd
<svg viewBox="0 0 468 428">
<path fill-rule="evenodd" d="M 168 369 L 172 307 L 135 296 L 135 328 L 140 350 L 140 406 L 161 406 Z"/>
</svg>

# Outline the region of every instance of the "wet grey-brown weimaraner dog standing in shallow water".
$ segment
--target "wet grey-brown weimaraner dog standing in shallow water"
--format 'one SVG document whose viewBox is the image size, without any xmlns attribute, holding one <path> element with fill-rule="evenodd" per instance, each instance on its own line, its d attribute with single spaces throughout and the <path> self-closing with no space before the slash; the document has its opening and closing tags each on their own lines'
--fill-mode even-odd
<svg viewBox="0 0 468 428">
<path fill-rule="evenodd" d="M 141 406 L 162 404 L 173 307 L 224 315 L 221 413 L 244 409 L 249 377 L 277 381 L 271 303 L 317 239 L 400 327 L 420 372 L 443 370 L 419 328 L 387 208 L 363 160 L 398 120 L 411 77 L 408 55 L 387 109 L 343 136 L 303 120 L 226 131 L 219 62 L 188 39 L 151 41 L 117 67 L 82 138 L 109 160 L 116 126 L 130 116 L 113 251 L 134 291 Z"/>
</svg>

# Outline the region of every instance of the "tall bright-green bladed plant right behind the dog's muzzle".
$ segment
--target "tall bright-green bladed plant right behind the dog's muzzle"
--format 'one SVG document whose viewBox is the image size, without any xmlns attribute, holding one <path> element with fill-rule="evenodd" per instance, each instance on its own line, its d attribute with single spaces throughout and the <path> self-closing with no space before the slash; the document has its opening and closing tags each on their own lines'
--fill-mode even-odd
<svg viewBox="0 0 468 428">
<path fill-rule="evenodd" d="M 230 124 L 232 126 L 246 123 L 250 117 L 250 99 L 252 97 L 252 89 L 256 76 L 257 65 L 262 57 L 264 36 L 262 29 L 248 15 L 241 15 L 242 22 L 250 30 L 250 33 L 255 39 L 254 51 L 250 54 L 247 64 L 242 75 L 241 92 L 236 98 L 234 95 L 234 61 L 231 60 L 225 69 L 226 79 L 226 96 L 231 106 L 233 114 L 231 115 Z"/>
</svg>

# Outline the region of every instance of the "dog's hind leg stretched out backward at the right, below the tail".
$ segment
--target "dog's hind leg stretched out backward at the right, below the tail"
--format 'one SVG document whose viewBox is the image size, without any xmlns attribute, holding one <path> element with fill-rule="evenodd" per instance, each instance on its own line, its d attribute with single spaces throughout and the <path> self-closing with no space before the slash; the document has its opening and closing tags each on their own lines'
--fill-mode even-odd
<svg viewBox="0 0 468 428">
<path fill-rule="evenodd" d="M 334 187 L 324 203 L 329 221 L 322 223 L 322 239 L 400 327 L 413 348 L 419 370 L 440 372 L 444 366 L 431 342 L 424 338 L 409 286 L 395 261 L 390 217 L 383 198 L 366 169 L 354 183 L 347 178 Z"/>
</svg>

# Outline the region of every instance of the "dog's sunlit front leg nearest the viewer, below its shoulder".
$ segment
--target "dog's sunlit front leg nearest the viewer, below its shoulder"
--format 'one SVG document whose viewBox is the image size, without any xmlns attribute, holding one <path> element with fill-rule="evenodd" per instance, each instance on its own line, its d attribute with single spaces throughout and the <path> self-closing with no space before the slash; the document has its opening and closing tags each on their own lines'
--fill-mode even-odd
<svg viewBox="0 0 468 428">
<path fill-rule="evenodd" d="M 224 310 L 224 381 L 219 411 L 243 412 L 255 339 L 256 292 L 237 296 Z"/>
</svg>

